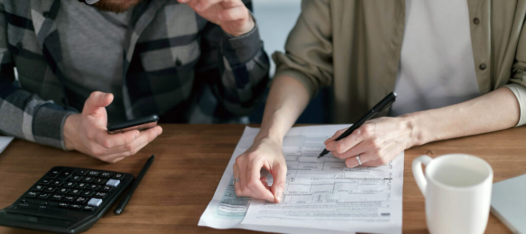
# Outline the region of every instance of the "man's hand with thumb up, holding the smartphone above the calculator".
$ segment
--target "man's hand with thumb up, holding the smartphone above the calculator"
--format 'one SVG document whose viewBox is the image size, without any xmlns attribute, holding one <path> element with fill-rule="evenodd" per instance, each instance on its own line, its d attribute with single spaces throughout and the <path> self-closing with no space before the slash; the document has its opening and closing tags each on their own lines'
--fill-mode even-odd
<svg viewBox="0 0 526 234">
<path fill-rule="evenodd" d="M 66 149 L 76 149 L 89 156 L 114 163 L 134 155 L 163 132 L 160 126 L 156 126 L 144 131 L 131 130 L 108 134 L 106 106 L 112 101 L 113 94 L 95 91 L 86 100 L 81 114 L 73 114 L 66 118 Z"/>
</svg>

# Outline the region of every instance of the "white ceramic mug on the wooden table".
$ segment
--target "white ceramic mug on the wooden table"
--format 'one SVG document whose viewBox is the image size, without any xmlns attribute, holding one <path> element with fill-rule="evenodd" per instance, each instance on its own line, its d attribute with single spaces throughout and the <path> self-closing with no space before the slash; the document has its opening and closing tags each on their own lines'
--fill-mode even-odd
<svg viewBox="0 0 526 234">
<path fill-rule="evenodd" d="M 426 165 L 426 175 L 422 173 Z M 413 160 L 413 176 L 426 198 L 431 233 L 483 233 L 488 224 L 493 170 L 481 158 L 422 155 Z"/>
</svg>

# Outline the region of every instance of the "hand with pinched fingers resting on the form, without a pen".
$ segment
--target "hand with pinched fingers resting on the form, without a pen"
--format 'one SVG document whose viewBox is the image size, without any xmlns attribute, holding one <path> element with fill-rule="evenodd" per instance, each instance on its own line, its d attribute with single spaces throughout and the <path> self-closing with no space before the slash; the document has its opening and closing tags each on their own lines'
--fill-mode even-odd
<svg viewBox="0 0 526 234">
<path fill-rule="evenodd" d="M 267 169 L 274 182 L 268 185 L 267 178 L 261 177 L 261 168 Z M 247 151 L 236 158 L 234 164 L 234 178 L 236 194 L 240 197 L 254 197 L 256 199 L 281 201 L 281 194 L 285 190 L 287 165 L 281 142 L 269 138 L 256 139 Z"/>
</svg>

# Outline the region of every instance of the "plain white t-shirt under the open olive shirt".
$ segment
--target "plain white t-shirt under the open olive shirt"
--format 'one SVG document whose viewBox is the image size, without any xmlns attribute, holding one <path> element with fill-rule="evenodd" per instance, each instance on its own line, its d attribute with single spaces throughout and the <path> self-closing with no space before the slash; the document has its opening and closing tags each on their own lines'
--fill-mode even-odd
<svg viewBox="0 0 526 234">
<path fill-rule="evenodd" d="M 405 24 L 390 116 L 480 96 L 467 1 L 406 0 Z"/>
</svg>

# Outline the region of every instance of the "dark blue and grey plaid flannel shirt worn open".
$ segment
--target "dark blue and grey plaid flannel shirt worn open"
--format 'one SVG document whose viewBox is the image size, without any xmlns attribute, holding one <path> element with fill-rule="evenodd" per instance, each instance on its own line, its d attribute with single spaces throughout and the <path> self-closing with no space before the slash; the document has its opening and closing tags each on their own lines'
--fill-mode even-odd
<svg viewBox="0 0 526 234">
<path fill-rule="evenodd" d="M 64 122 L 76 111 L 68 105 L 57 14 L 60 0 L 0 0 L 0 132 L 64 148 Z M 186 4 L 144 0 L 126 36 L 128 119 L 175 113 L 177 121 L 218 123 L 247 115 L 264 95 L 269 60 L 257 26 L 232 37 Z"/>
</svg>

